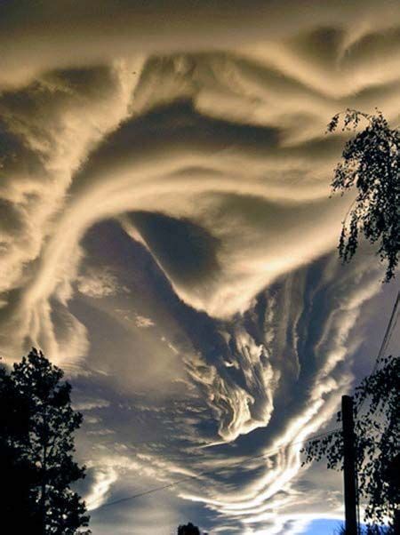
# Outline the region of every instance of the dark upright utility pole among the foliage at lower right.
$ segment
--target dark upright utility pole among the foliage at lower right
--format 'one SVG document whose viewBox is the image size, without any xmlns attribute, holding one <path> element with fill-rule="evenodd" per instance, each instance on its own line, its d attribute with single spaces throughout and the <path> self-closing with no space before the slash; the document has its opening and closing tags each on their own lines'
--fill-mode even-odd
<svg viewBox="0 0 400 535">
<path fill-rule="evenodd" d="M 343 479 L 345 496 L 346 535 L 357 535 L 356 516 L 356 448 L 353 419 L 353 398 L 341 396 L 343 421 Z"/>
</svg>

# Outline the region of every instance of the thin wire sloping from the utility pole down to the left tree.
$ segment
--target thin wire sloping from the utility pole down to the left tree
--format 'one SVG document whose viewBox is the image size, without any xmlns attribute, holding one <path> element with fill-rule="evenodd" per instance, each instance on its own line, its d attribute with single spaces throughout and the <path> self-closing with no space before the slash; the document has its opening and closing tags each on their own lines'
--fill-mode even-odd
<svg viewBox="0 0 400 535">
<path fill-rule="evenodd" d="M 246 457 L 246 459 L 240 460 L 240 461 L 230 465 L 230 467 L 238 467 L 240 465 L 243 465 L 245 462 L 248 462 L 249 460 L 262 459 L 264 457 L 267 457 L 269 455 L 277 453 L 278 451 L 284 450 L 284 448 L 287 448 L 289 446 L 292 446 L 292 445 L 295 445 L 295 444 L 300 444 L 300 443 L 308 443 L 308 442 L 310 442 L 312 440 L 316 440 L 318 438 L 322 438 L 323 436 L 332 435 L 333 433 L 336 433 L 337 431 L 340 431 L 340 427 L 336 427 L 335 429 L 332 429 L 331 431 L 325 431 L 324 433 L 320 433 L 319 435 L 310 436 L 306 440 L 299 440 L 299 441 L 295 441 L 295 442 L 292 442 L 292 443 L 285 443 L 282 446 L 274 448 L 273 450 L 264 451 L 264 453 L 261 453 L 260 455 L 252 455 L 251 457 Z M 196 475 L 188 475 L 187 477 L 184 477 L 182 479 L 178 479 L 177 481 L 174 481 L 172 483 L 166 483 L 166 484 L 164 484 L 164 485 L 162 485 L 160 487 L 154 487 L 153 489 L 149 489 L 148 491 L 138 492 L 137 494 L 132 494 L 131 496 L 126 496 L 124 498 L 116 499 L 114 501 L 108 501 L 108 502 L 102 504 L 100 507 L 96 507 L 95 510 L 99 511 L 100 509 L 102 509 L 104 507 L 115 506 L 117 504 L 123 503 L 124 501 L 129 501 L 131 499 L 137 499 L 137 498 L 141 498 L 143 496 L 147 496 L 148 494 L 152 494 L 153 492 L 164 491 L 165 489 L 171 489 L 172 487 L 174 487 L 176 485 L 179 485 L 180 483 L 186 483 L 188 481 L 197 479 L 197 478 L 201 477 L 202 475 L 216 474 L 216 473 L 218 473 L 218 472 L 220 472 L 221 470 L 224 470 L 224 469 L 226 469 L 226 467 L 214 468 L 212 470 L 204 470 L 203 472 L 199 472 Z M 88 507 L 91 507 L 90 503 L 86 504 L 86 505 Z"/>
</svg>

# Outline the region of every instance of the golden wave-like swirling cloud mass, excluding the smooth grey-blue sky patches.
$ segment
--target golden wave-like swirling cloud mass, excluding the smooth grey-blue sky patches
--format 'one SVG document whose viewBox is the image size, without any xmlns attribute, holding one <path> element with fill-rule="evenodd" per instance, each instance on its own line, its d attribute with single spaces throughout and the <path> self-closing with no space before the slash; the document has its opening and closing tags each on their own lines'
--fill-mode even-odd
<svg viewBox="0 0 400 535">
<path fill-rule="evenodd" d="M 174 436 L 177 451 L 202 445 L 198 462 L 156 476 L 223 465 L 207 491 L 181 492 L 220 515 L 217 530 L 295 532 L 301 443 L 351 384 L 348 335 L 380 277 L 371 257 L 344 269 L 331 253 L 351 199 L 328 198 L 345 138 L 324 125 L 347 107 L 398 120 L 396 3 L 85 3 L 69 19 L 68 3 L 42 4 L 2 7 L 0 349 L 12 362 L 36 345 L 87 371 L 97 334 L 78 292 L 135 299 L 107 251 L 105 268 L 87 260 L 84 237 L 115 220 L 171 285 L 168 348 L 202 406 Z M 95 479 L 99 503 L 118 466 Z"/>
</svg>

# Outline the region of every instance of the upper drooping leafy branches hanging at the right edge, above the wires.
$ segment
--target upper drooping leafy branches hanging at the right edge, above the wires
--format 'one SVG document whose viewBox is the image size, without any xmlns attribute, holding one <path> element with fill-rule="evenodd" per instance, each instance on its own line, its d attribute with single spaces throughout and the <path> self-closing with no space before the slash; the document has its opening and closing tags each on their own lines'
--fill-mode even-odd
<svg viewBox="0 0 400 535">
<path fill-rule="evenodd" d="M 340 258 L 351 260 L 362 233 L 372 244 L 379 243 L 377 254 L 388 264 L 388 282 L 395 276 L 400 250 L 400 131 L 390 128 L 378 110 L 370 115 L 347 109 L 332 117 L 327 132 L 337 129 L 340 115 L 344 115 L 343 131 L 355 130 L 366 122 L 364 130 L 346 143 L 332 180 L 333 193 L 341 191 L 343 195 L 349 188 L 357 188 L 356 199 L 343 221 Z"/>
</svg>

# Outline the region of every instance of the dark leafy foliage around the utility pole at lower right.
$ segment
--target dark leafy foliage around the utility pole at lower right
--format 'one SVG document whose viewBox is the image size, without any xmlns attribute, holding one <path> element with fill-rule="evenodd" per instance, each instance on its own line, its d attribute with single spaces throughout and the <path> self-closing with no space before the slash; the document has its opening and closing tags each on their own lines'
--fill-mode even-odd
<svg viewBox="0 0 400 535">
<path fill-rule="evenodd" d="M 368 400 L 364 413 L 362 408 Z M 365 502 L 364 520 L 369 533 L 389 519 L 390 533 L 400 532 L 399 453 L 400 357 L 382 359 L 379 370 L 363 379 L 355 395 L 356 467 L 358 491 Z M 338 414 L 340 420 L 341 415 Z M 306 459 L 327 459 L 328 468 L 342 469 L 341 431 L 308 443 Z"/>
</svg>

